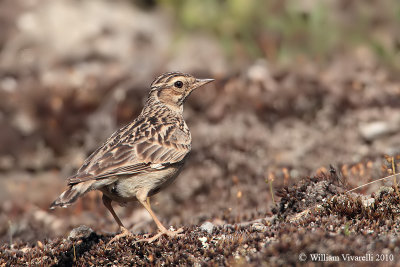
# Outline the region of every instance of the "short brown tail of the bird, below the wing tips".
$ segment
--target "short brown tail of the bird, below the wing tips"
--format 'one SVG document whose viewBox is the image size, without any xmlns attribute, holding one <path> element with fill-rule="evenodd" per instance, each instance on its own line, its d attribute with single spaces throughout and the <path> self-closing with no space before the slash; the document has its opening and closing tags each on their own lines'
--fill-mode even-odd
<svg viewBox="0 0 400 267">
<path fill-rule="evenodd" d="M 90 191 L 95 182 L 96 181 L 85 181 L 79 184 L 71 185 L 53 203 L 51 203 L 50 209 L 54 209 L 56 207 L 66 208 L 74 203 L 78 197 Z"/>
</svg>

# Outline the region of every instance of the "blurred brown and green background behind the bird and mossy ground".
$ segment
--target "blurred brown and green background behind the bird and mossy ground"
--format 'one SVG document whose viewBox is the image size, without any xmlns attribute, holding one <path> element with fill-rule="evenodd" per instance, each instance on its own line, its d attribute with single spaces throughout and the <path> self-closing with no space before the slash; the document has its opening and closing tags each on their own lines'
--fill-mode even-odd
<svg viewBox="0 0 400 267">
<path fill-rule="evenodd" d="M 395 0 L 1 0 L 0 241 L 117 230 L 100 193 L 48 206 L 165 71 L 216 79 L 187 101 L 191 157 L 153 199 L 168 225 L 268 216 L 270 186 L 330 165 L 349 188 L 383 177 L 400 153 L 399 23 Z M 116 211 L 156 229 L 138 205 Z"/>
</svg>

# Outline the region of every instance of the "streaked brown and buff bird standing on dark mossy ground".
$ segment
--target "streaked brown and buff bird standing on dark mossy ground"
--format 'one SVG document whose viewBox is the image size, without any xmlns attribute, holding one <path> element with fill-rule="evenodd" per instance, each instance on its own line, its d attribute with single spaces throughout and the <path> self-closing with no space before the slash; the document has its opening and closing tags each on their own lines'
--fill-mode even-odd
<svg viewBox="0 0 400 267">
<path fill-rule="evenodd" d="M 150 205 L 150 197 L 178 176 L 191 150 L 192 137 L 183 118 L 183 104 L 196 88 L 214 81 L 190 74 L 167 72 L 158 76 L 139 116 L 114 132 L 67 179 L 68 188 L 50 205 L 67 207 L 92 190 L 102 194 L 104 206 L 120 228 L 119 238 L 132 235 L 124 227 L 111 203 L 139 201 L 158 227 L 149 243 L 162 235 L 175 237 L 183 232 L 167 230 Z"/>
</svg>

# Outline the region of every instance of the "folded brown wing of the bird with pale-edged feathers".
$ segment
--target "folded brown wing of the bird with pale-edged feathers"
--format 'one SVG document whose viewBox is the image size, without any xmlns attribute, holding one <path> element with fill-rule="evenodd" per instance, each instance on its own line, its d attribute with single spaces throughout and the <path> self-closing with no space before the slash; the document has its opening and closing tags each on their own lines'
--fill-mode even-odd
<svg viewBox="0 0 400 267">
<path fill-rule="evenodd" d="M 137 131 L 129 129 L 128 125 L 114 133 L 85 161 L 78 173 L 68 179 L 68 184 L 162 169 L 182 161 L 190 152 L 189 132 L 173 124 L 158 125 L 157 131 L 154 130 L 156 126 L 146 121 L 141 125 Z"/>
</svg>

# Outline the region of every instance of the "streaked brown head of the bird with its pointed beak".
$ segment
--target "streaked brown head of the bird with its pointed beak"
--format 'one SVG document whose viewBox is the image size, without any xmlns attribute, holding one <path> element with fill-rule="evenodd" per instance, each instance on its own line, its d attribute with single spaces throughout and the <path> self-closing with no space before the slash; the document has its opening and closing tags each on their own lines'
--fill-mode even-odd
<svg viewBox="0 0 400 267">
<path fill-rule="evenodd" d="M 175 111 L 182 111 L 190 93 L 214 79 L 197 79 L 190 74 L 168 72 L 157 77 L 151 84 L 150 95 Z"/>
</svg>

